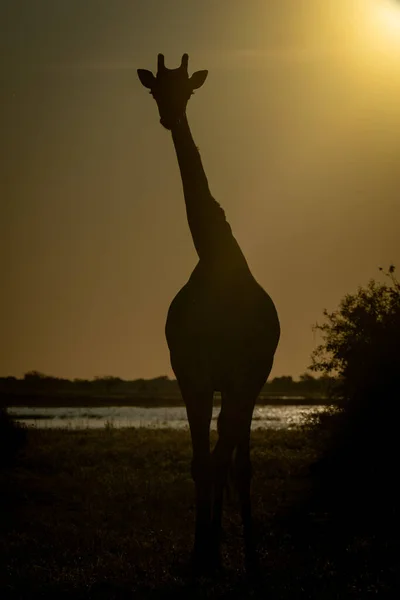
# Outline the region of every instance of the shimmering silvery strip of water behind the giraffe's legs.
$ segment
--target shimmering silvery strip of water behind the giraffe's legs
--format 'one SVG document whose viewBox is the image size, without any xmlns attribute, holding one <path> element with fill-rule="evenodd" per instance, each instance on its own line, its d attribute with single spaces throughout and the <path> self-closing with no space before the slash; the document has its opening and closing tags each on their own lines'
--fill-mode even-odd
<svg viewBox="0 0 400 600">
<path fill-rule="evenodd" d="M 219 407 L 214 408 L 211 429 L 216 429 Z M 284 429 L 301 425 L 311 412 L 324 406 L 256 406 L 252 429 Z M 140 406 L 32 408 L 13 407 L 9 413 L 21 423 L 40 428 L 151 427 L 185 429 L 188 427 L 183 406 L 142 408 Z"/>
</svg>

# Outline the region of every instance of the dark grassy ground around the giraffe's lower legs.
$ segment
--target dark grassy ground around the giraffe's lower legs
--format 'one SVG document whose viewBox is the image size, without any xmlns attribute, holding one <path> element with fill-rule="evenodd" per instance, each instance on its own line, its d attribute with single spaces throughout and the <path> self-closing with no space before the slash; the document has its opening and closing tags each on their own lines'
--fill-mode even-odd
<svg viewBox="0 0 400 600">
<path fill-rule="evenodd" d="M 289 518 L 310 489 L 310 438 L 259 431 L 252 448 L 262 578 L 246 580 L 231 502 L 225 573 L 194 581 L 187 432 L 30 430 L 17 466 L 0 472 L 0 597 L 395 597 L 394 542 L 341 538 L 323 511 L 301 527 Z"/>
</svg>

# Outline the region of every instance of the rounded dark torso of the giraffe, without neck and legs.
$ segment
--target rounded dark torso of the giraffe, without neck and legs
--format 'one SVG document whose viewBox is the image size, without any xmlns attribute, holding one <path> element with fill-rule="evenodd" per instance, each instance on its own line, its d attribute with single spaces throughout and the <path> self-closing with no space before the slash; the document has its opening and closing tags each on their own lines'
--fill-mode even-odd
<svg viewBox="0 0 400 600">
<path fill-rule="evenodd" d="M 178 380 L 190 374 L 198 387 L 223 392 L 253 372 L 264 385 L 279 324 L 247 266 L 228 274 L 216 268 L 210 276 L 200 260 L 171 303 L 166 337 Z"/>
</svg>

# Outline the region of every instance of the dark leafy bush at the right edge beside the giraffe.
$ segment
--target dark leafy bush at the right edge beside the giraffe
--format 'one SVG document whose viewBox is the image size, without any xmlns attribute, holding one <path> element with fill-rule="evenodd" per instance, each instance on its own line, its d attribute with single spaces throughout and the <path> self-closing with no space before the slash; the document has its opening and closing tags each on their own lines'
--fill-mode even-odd
<svg viewBox="0 0 400 600">
<path fill-rule="evenodd" d="M 323 343 L 312 369 L 336 375 L 331 410 L 316 417 L 328 439 L 314 475 L 325 499 L 346 512 L 390 518 L 399 500 L 400 284 L 371 281 L 346 295 L 338 310 L 324 311 L 316 329 Z"/>
</svg>

